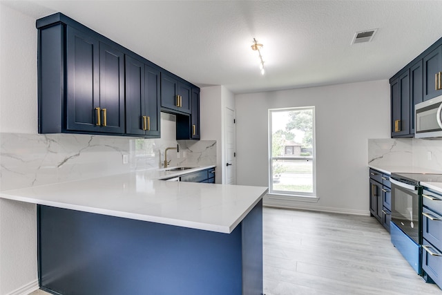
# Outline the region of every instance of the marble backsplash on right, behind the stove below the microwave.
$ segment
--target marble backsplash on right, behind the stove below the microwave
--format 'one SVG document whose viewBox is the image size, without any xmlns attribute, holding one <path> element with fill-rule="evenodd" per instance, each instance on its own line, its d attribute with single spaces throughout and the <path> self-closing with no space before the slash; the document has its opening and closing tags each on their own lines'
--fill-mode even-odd
<svg viewBox="0 0 442 295">
<path fill-rule="evenodd" d="M 442 140 L 368 140 L 368 164 L 415 166 L 442 172 Z"/>
</svg>

